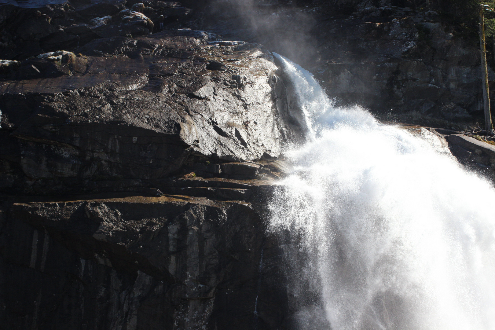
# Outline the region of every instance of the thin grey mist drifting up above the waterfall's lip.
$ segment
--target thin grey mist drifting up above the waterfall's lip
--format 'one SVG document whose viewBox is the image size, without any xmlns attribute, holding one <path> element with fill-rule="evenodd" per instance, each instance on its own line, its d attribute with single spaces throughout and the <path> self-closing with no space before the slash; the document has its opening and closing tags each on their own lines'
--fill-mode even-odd
<svg viewBox="0 0 495 330">
<path fill-rule="evenodd" d="M 308 4 L 305 4 L 305 3 Z M 320 60 L 310 1 L 212 0 L 205 28 L 224 40 L 258 43 L 303 66 Z"/>
</svg>

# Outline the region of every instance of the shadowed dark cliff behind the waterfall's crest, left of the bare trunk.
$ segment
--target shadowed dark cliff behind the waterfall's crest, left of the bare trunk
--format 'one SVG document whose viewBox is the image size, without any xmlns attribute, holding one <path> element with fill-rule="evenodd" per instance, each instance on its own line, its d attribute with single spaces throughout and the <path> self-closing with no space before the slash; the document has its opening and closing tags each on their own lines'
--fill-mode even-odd
<svg viewBox="0 0 495 330">
<path fill-rule="evenodd" d="M 208 3 L 208 31 L 291 58 L 343 104 L 456 130 L 483 121 L 476 36 L 459 36 L 435 10 L 400 0 Z"/>
</svg>

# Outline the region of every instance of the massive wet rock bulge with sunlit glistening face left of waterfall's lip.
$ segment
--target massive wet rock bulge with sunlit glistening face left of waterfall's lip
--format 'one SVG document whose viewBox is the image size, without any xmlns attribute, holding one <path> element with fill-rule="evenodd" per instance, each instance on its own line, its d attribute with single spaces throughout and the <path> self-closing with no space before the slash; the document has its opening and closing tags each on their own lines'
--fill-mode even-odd
<svg viewBox="0 0 495 330">
<path fill-rule="evenodd" d="M 295 130 L 274 102 L 273 57 L 254 44 L 202 43 L 167 33 L 97 39 L 77 55 L 48 53 L 20 63 L 32 71 L 10 70 L 1 127 L 17 154 L 2 159 L 2 189 L 124 189 L 196 163 L 277 156 Z M 222 70 L 209 69 L 216 62 Z M 224 170 L 249 176 L 257 166 Z"/>
</svg>

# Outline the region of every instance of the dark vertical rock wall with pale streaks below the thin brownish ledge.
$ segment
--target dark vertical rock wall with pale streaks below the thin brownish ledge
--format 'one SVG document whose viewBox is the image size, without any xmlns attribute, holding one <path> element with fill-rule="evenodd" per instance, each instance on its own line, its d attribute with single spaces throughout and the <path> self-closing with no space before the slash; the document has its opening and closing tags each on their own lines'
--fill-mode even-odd
<svg viewBox="0 0 495 330">
<path fill-rule="evenodd" d="M 256 298 L 270 294 L 260 282 L 264 235 L 243 202 L 15 203 L 1 232 L 0 321 L 7 329 L 254 329 Z M 280 325 L 283 305 L 257 308 Z"/>
</svg>

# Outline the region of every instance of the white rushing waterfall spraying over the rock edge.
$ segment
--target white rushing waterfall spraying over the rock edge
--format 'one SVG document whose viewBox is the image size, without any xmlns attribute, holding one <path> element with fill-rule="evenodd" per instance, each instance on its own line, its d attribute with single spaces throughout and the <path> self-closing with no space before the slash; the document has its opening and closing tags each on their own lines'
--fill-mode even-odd
<svg viewBox="0 0 495 330">
<path fill-rule="evenodd" d="M 317 316 L 306 313 L 301 329 L 494 330 L 491 184 L 425 139 L 335 107 L 310 73 L 275 56 L 307 142 L 286 152 L 295 167 L 271 229 L 297 237 L 294 300 L 325 319 L 309 325 Z"/>
</svg>

